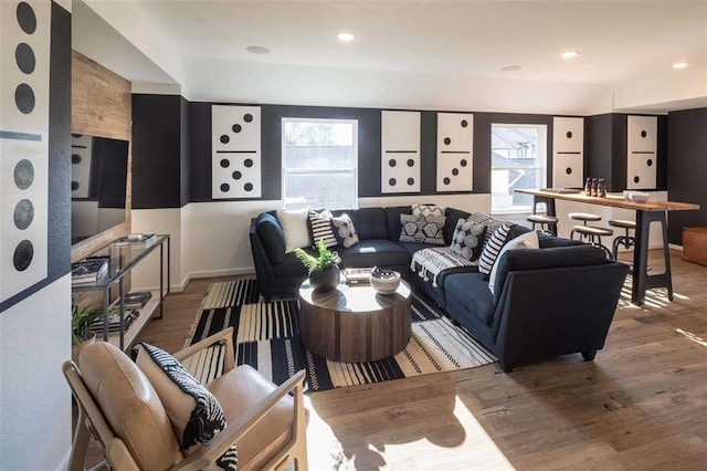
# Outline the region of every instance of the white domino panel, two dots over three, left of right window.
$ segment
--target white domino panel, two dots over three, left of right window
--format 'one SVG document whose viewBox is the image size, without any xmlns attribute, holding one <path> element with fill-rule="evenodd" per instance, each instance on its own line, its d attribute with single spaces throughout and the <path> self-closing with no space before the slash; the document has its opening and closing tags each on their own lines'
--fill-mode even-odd
<svg viewBox="0 0 707 471">
<path fill-rule="evenodd" d="M 471 191 L 474 115 L 437 113 L 437 191 Z"/>
</svg>

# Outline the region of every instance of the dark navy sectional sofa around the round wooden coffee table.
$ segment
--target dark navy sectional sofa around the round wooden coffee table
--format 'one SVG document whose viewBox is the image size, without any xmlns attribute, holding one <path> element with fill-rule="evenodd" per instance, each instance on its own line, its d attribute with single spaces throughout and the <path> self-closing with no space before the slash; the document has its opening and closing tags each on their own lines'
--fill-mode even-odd
<svg viewBox="0 0 707 471">
<path fill-rule="evenodd" d="M 488 275 L 474 266 L 445 270 L 433 286 L 410 269 L 413 253 L 432 245 L 398 241 L 400 214 L 411 213 L 409 206 L 333 211 L 334 216 L 342 212 L 351 218 L 360 242 L 337 248 L 341 268 L 399 271 L 493 352 L 504 371 L 572 353 L 589 360 L 603 347 L 629 266 L 606 260 L 600 249 L 540 234 L 539 249 L 507 250 L 496 261 L 494 293 Z M 447 244 L 458 219 L 468 216 L 446 209 Z M 509 239 L 528 231 L 515 226 Z M 293 253 L 285 253 L 275 211 L 252 219 L 250 239 L 264 297 L 295 295 L 307 272 Z M 312 248 L 306 250 L 314 253 Z"/>
</svg>

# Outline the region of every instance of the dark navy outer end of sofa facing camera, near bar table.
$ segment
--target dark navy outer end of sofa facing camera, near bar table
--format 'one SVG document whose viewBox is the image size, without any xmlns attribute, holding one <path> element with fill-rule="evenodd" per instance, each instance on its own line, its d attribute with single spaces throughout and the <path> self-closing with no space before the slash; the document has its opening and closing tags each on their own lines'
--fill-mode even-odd
<svg viewBox="0 0 707 471">
<path fill-rule="evenodd" d="M 599 265 L 508 273 L 492 335 L 504 370 L 520 363 L 604 345 L 629 266 Z"/>
</svg>

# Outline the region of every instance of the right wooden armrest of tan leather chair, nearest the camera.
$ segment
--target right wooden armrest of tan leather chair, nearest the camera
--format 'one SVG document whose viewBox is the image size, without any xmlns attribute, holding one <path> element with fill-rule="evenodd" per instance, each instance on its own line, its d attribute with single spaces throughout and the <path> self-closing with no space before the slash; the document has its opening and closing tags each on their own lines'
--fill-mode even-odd
<svg viewBox="0 0 707 471">
<path fill-rule="evenodd" d="M 283 451 L 277 453 L 264 469 L 271 469 L 279 462 L 296 442 L 305 433 L 305 408 L 304 408 L 304 379 L 305 371 L 299 370 L 295 376 L 283 383 L 277 389 L 262 399 L 255 407 L 249 410 L 238 420 L 231 422 L 225 429 L 220 431 L 209 443 L 201 447 L 197 452 L 187 457 L 183 461 L 173 467 L 173 470 L 201 470 L 212 465 L 226 450 L 238 442 L 249 430 L 251 430 L 275 405 L 294 390 L 293 410 L 293 432 L 289 443 L 283 447 Z"/>
</svg>

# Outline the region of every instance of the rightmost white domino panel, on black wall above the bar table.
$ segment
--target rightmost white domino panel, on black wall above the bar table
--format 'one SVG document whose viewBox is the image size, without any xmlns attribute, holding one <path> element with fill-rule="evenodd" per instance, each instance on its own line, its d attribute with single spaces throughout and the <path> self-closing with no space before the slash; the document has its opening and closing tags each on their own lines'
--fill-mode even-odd
<svg viewBox="0 0 707 471">
<path fill-rule="evenodd" d="M 656 116 L 627 117 L 626 189 L 654 189 L 657 168 Z"/>
</svg>

